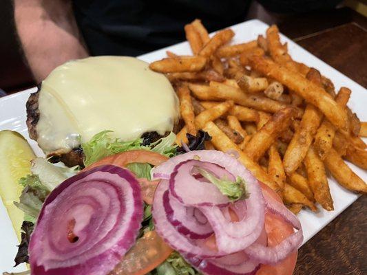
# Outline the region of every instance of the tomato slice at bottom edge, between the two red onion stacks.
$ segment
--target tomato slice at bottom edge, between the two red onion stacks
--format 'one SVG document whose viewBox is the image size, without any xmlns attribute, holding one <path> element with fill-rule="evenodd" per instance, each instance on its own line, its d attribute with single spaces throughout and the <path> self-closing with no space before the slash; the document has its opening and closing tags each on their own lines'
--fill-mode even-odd
<svg viewBox="0 0 367 275">
<path fill-rule="evenodd" d="M 173 251 L 156 231 L 146 232 L 109 275 L 147 274 L 163 263 Z"/>
</svg>

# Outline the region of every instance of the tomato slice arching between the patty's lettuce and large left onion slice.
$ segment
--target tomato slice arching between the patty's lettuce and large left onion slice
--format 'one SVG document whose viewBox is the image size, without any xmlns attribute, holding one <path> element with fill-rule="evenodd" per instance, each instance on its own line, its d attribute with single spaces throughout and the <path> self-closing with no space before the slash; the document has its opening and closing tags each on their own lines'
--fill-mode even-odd
<svg viewBox="0 0 367 275">
<path fill-rule="evenodd" d="M 168 157 L 160 155 L 159 153 L 147 150 L 132 150 L 104 157 L 103 159 L 98 160 L 98 162 L 95 162 L 94 164 L 85 167 L 83 170 L 90 170 L 96 166 L 106 164 L 125 167 L 127 166 L 127 164 L 131 163 L 149 163 L 157 166 L 162 162 L 165 162 L 167 159 Z M 159 181 L 149 181 L 143 178 L 138 179 L 138 181 L 142 189 L 143 200 L 148 204 L 153 203 L 154 192 L 156 191 L 156 187 Z"/>
</svg>

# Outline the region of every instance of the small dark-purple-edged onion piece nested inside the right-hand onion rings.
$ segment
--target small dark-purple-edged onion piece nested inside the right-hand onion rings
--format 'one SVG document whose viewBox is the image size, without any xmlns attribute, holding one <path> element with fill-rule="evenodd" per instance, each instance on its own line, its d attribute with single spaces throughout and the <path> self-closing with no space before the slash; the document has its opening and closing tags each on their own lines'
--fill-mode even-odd
<svg viewBox="0 0 367 275">
<path fill-rule="evenodd" d="M 180 234 L 184 234 L 190 239 L 206 239 L 213 234 L 209 221 L 198 208 L 182 205 L 168 192 L 163 197 L 163 205 L 167 219 Z"/>
</svg>

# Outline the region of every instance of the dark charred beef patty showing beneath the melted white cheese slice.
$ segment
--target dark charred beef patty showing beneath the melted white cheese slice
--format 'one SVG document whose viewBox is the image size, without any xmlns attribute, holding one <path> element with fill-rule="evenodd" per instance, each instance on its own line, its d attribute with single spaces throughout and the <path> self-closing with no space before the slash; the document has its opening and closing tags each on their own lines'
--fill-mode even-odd
<svg viewBox="0 0 367 275">
<path fill-rule="evenodd" d="M 31 94 L 28 98 L 25 107 L 27 108 L 27 126 L 28 126 L 28 133 L 32 140 L 37 140 L 38 133 L 36 130 L 36 125 L 39 122 L 39 91 L 41 90 L 41 85 L 38 86 L 38 90 Z M 174 131 L 178 128 L 176 125 Z M 176 131 L 175 131 L 176 133 Z M 142 135 L 143 138 L 143 145 L 149 145 L 152 142 L 156 142 L 162 137 L 157 132 L 147 132 Z M 83 159 L 84 153 L 83 148 L 78 146 L 77 148 L 73 148 L 72 151 L 63 153 L 62 151 L 55 151 L 48 155 L 50 158 L 50 162 L 63 162 L 66 166 L 72 167 L 79 165 L 81 167 L 84 166 Z"/>
</svg>

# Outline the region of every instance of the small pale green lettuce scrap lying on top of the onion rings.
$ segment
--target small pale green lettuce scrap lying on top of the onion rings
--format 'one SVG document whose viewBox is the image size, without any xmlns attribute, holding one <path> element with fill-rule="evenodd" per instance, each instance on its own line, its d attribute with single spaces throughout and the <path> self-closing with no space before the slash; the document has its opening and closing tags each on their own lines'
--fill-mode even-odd
<svg viewBox="0 0 367 275">
<path fill-rule="evenodd" d="M 208 170 L 196 167 L 202 177 L 209 180 L 212 184 L 222 192 L 223 195 L 227 196 L 231 201 L 238 201 L 238 199 L 248 198 L 249 194 L 246 192 L 246 182 L 242 177 L 236 177 L 235 181 L 231 181 L 224 177 L 219 179 L 213 173 Z"/>
</svg>

